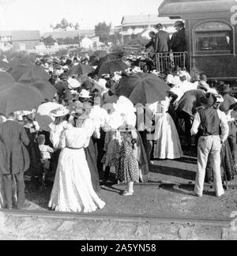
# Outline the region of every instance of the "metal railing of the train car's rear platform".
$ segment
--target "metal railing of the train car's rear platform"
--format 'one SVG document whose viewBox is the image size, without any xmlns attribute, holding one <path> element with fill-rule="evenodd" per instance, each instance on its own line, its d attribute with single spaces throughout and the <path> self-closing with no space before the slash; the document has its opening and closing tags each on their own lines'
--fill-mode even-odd
<svg viewBox="0 0 237 256">
<path fill-rule="evenodd" d="M 163 52 L 156 54 L 156 70 L 164 73 L 167 70 L 174 70 L 175 67 L 186 67 L 186 51 Z"/>
</svg>

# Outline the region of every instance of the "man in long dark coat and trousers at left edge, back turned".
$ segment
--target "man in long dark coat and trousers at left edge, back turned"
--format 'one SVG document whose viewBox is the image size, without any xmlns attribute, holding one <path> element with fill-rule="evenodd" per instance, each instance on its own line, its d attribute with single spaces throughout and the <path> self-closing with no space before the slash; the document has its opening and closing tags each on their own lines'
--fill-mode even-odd
<svg viewBox="0 0 237 256">
<path fill-rule="evenodd" d="M 13 179 L 17 183 L 17 209 L 25 207 L 24 171 L 29 168 L 29 155 L 25 145 L 29 144 L 28 136 L 15 115 L 6 116 L 6 122 L 0 124 L 0 172 L 3 179 L 3 190 L 6 197 L 6 209 L 13 208 Z"/>
</svg>

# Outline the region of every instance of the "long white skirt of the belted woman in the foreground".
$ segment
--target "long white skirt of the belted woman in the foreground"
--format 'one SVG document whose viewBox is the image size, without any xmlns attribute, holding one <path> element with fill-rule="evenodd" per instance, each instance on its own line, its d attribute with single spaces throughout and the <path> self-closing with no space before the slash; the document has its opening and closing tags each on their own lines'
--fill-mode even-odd
<svg viewBox="0 0 237 256">
<path fill-rule="evenodd" d="M 92 213 L 105 206 L 93 190 L 84 149 L 62 150 L 48 206 L 73 213 Z"/>
</svg>

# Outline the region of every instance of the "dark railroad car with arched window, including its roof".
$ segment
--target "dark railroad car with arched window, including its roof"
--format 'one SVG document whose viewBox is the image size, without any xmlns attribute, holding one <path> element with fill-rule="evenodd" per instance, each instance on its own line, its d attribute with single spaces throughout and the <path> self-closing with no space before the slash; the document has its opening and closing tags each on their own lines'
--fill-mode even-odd
<svg viewBox="0 0 237 256">
<path fill-rule="evenodd" d="M 237 1 L 164 0 L 158 12 L 160 17 L 185 21 L 190 72 L 200 70 L 211 81 L 236 84 Z"/>
</svg>

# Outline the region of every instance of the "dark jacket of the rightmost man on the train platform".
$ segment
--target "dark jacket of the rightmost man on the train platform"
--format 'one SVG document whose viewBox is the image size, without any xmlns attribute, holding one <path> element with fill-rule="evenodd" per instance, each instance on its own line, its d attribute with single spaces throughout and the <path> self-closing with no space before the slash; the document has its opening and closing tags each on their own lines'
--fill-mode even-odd
<svg viewBox="0 0 237 256">
<path fill-rule="evenodd" d="M 187 51 L 187 38 L 185 28 L 182 28 L 179 30 L 179 32 L 175 32 L 175 34 L 172 36 L 171 50 L 174 52 Z"/>
</svg>

